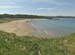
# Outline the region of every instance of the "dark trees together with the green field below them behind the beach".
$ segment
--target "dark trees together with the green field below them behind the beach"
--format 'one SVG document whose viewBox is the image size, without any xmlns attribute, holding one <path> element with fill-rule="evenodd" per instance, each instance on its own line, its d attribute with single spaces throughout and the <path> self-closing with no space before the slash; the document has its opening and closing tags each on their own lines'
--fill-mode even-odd
<svg viewBox="0 0 75 55">
<path fill-rule="evenodd" d="M 47 16 L 37 16 L 37 15 L 24 15 L 24 14 L 0 14 L 0 23 L 15 21 L 15 20 L 22 20 L 22 19 L 36 19 L 36 18 L 49 18 Z"/>
</svg>

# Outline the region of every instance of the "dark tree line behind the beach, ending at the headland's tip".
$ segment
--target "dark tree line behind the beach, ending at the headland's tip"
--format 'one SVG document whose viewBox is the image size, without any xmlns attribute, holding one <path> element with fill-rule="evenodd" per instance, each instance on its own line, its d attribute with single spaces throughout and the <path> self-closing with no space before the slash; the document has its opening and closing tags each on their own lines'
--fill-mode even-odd
<svg viewBox="0 0 75 55">
<path fill-rule="evenodd" d="M 49 16 L 38 16 L 38 15 L 25 15 L 25 14 L 0 14 L 0 18 L 24 18 L 24 19 L 34 19 L 34 18 L 49 18 L 51 19 L 51 17 Z"/>
</svg>

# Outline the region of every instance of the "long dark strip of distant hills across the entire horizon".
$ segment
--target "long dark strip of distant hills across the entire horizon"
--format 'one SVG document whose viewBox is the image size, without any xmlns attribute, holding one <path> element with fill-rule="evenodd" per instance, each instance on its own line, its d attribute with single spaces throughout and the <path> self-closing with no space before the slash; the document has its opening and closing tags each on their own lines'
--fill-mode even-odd
<svg viewBox="0 0 75 55">
<path fill-rule="evenodd" d="M 39 16 L 39 15 L 25 15 L 25 14 L 0 14 L 0 18 L 75 18 L 75 16 Z"/>
</svg>

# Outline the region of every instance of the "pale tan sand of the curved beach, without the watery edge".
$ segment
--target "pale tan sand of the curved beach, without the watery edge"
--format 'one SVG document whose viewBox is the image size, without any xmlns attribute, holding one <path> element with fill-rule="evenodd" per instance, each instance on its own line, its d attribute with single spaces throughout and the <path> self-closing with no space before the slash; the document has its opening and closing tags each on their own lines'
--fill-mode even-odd
<svg viewBox="0 0 75 55">
<path fill-rule="evenodd" d="M 0 24 L 0 31 L 15 33 L 18 36 L 35 36 L 46 38 L 46 33 L 30 25 L 31 19 L 16 20 Z"/>
</svg>

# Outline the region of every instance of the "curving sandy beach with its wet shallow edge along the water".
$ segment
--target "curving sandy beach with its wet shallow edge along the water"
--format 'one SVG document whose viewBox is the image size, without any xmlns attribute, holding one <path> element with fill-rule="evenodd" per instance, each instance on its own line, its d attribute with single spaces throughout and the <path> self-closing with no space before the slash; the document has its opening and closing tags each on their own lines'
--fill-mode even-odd
<svg viewBox="0 0 75 55">
<path fill-rule="evenodd" d="M 31 21 L 35 20 L 39 19 L 23 19 L 1 23 L 0 31 L 15 33 L 18 36 L 34 36 L 38 38 L 57 38 L 62 36 L 58 36 L 56 33 L 34 27 L 34 25 L 31 24 Z"/>
</svg>

